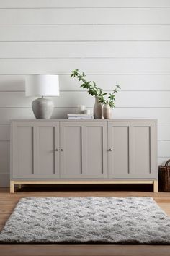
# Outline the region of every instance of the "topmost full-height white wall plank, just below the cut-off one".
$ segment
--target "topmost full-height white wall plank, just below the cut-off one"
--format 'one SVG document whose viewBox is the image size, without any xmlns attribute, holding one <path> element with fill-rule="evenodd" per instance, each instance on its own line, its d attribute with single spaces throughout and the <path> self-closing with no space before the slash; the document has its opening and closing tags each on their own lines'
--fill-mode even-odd
<svg viewBox="0 0 170 256">
<path fill-rule="evenodd" d="M 0 9 L 0 25 L 167 24 L 170 8 Z"/>
</svg>

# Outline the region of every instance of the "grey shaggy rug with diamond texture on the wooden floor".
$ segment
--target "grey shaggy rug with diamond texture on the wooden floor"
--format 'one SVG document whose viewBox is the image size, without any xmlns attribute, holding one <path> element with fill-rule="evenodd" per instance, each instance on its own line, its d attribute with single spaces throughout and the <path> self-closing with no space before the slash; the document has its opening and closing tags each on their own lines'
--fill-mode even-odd
<svg viewBox="0 0 170 256">
<path fill-rule="evenodd" d="M 170 218 L 151 197 L 27 197 L 0 243 L 170 244 Z"/>
</svg>

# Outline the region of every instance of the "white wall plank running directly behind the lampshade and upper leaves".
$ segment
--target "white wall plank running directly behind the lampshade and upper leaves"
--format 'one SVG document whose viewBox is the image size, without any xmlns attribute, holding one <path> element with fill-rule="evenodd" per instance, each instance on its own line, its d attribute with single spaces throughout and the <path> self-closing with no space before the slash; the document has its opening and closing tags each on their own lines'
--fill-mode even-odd
<svg viewBox="0 0 170 256">
<path fill-rule="evenodd" d="M 81 72 L 81 71 L 80 71 Z M 104 90 L 113 90 L 116 84 L 121 86 L 122 90 L 170 90 L 169 75 L 135 75 L 135 74 L 87 74 L 86 79 L 95 81 L 99 88 Z M 24 75 L 0 75 L 1 91 L 24 91 Z M 76 78 L 70 75 L 60 75 L 60 90 L 83 90 Z"/>
</svg>

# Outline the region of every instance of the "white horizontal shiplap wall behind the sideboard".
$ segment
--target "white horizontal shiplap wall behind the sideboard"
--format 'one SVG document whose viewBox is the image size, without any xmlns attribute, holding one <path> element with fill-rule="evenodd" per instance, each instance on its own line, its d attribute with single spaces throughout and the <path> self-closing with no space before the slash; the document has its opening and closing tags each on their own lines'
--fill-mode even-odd
<svg viewBox="0 0 170 256">
<path fill-rule="evenodd" d="M 9 184 L 9 120 L 32 118 L 24 75 L 61 74 L 53 117 L 94 99 L 69 77 L 118 83 L 114 118 L 158 119 L 158 163 L 170 158 L 169 0 L 0 0 L 0 186 Z"/>
</svg>

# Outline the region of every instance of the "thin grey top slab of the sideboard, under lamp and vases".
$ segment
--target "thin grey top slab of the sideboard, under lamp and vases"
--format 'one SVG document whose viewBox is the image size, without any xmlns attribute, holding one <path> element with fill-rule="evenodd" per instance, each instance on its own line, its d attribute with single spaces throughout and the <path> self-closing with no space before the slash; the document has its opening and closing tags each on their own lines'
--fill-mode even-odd
<svg viewBox="0 0 170 256">
<path fill-rule="evenodd" d="M 11 119 L 11 121 L 157 121 L 157 119 Z"/>
</svg>

